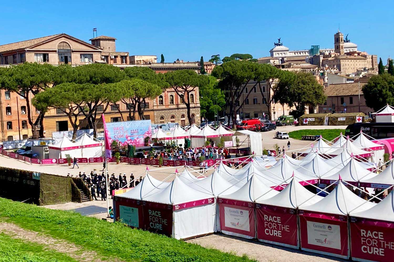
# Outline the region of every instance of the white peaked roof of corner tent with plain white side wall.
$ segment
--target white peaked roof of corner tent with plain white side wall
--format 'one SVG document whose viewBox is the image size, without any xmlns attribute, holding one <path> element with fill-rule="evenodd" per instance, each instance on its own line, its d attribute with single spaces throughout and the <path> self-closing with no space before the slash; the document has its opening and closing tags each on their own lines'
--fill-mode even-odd
<svg viewBox="0 0 394 262">
<path fill-rule="evenodd" d="M 212 197 L 212 194 L 197 191 L 189 187 L 188 185 L 183 183 L 178 176 L 176 176 L 175 179 L 171 183 L 169 183 L 169 185 L 165 189 L 145 197 L 144 200 L 169 205 L 178 205 L 181 203 L 203 200 Z"/>
</svg>

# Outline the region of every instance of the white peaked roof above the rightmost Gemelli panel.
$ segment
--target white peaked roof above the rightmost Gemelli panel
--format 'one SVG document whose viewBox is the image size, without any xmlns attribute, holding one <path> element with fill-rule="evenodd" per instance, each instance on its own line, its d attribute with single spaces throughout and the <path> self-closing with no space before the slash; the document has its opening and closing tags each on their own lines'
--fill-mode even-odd
<svg viewBox="0 0 394 262">
<path fill-rule="evenodd" d="M 354 194 L 346 188 L 342 181 L 340 181 L 335 189 L 322 200 L 312 205 L 302 205 L 302 209 L 306 211 L 347 215 L 350 211 L 365 202 L 367 201 Z M 367 202 L 356 210 L 358 212 L 364 211 L 366 209 L 370 209 L 374 205 L 375 203 Z"/>
</svg>

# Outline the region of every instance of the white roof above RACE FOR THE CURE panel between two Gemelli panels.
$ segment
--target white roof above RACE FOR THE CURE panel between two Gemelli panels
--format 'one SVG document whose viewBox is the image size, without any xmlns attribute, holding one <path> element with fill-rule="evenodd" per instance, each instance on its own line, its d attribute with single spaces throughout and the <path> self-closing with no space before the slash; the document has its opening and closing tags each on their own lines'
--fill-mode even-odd
<svg viewBox="0 0 394 262">
<path fill-rule="evenodd" d="M 297 178 L 293 177 L 290 180 L 290 183 L 281 192 L 279 192 L 279 194 L 266 200 L 258 198 L 256 202 L 278 207 L 297 208 L 298 205 L 305 201 L 307 201 L 305 202 L 306 204 L 310 205 L 323 198 L 322 196 L 315 195 L 308 189 L 305 189 L 305 187 L 303 187 L 299 182 L 300 181 Z"/>
</svg>

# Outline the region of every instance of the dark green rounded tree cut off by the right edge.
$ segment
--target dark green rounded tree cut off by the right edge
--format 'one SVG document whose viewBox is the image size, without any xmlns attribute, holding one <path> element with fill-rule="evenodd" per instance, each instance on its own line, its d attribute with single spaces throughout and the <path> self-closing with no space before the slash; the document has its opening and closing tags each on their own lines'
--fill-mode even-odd
<svg viewBox="0 0 394 262">
<path fill-rule="evenodd" d="M 394 104 L 394 76 L 390 74 L 374 75 L 362 87 L 365 103 L 375 111 L 385 104 Z"/>
</svg>

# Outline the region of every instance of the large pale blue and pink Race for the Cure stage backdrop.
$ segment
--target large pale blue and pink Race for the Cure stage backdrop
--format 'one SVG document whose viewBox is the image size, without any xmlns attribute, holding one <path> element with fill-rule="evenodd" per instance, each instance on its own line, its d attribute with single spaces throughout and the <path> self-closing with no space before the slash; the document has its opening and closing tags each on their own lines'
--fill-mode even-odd
<svg viewBox="0 0 394 262">
<path fill-rule="evenodd" d="M 109 143 L 117 141 L 120 145 L 144 145 L 145 137 L 152 137 L 151 120 L 123 121 L 106 123 Z"/>
</svg>

